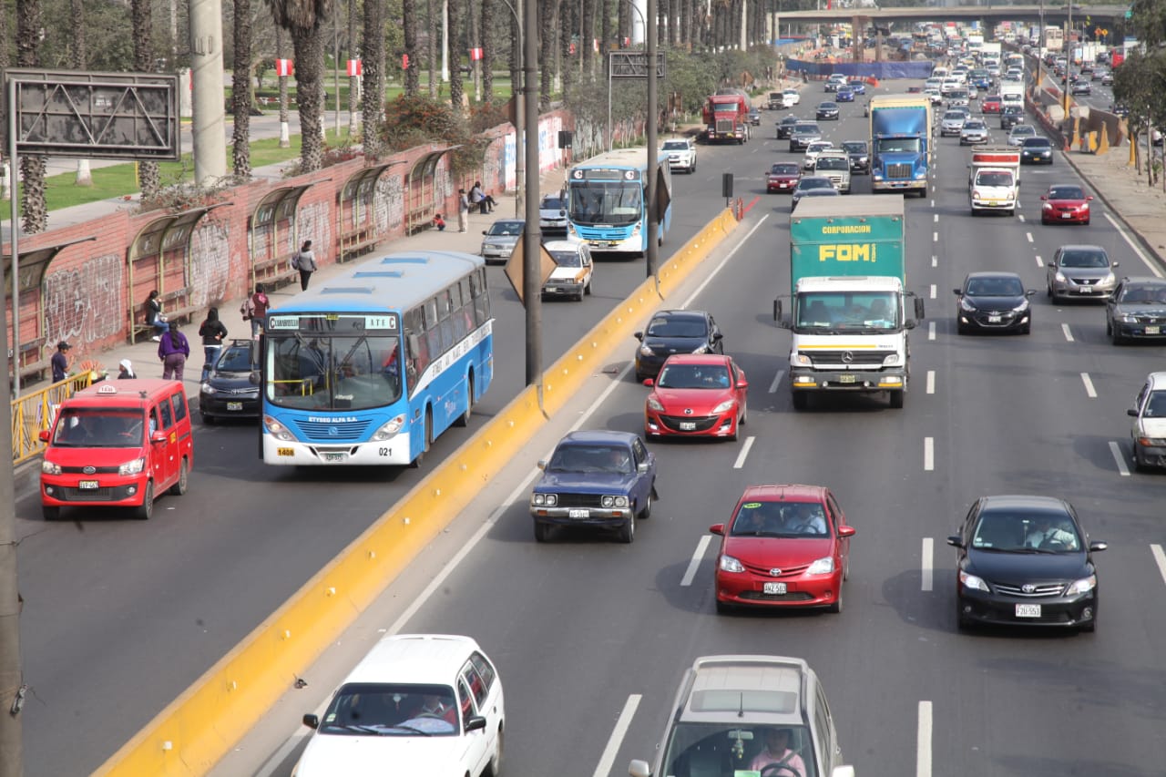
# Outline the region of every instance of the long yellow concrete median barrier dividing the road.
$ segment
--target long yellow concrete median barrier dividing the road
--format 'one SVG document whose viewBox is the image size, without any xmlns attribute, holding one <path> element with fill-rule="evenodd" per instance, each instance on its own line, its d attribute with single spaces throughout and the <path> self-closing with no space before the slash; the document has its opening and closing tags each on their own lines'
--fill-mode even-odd
<svg viewBox="0 0 1166 777">
<path fill-rule="evenodd" d="M 725 209 L 93 774 L 203 775 L 736 226 Z"/>
</svg>

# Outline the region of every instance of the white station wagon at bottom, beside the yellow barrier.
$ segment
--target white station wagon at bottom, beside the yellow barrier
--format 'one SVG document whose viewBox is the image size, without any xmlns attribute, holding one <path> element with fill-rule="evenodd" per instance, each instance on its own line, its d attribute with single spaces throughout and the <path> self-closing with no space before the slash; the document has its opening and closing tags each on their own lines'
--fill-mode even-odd
<svg viewBox="0 0 1166 777">
<path fill-rule="evenodd" d="M 497 775 L 503 757 L 503 685 L 470 637 L 393 635 L 361 659 L 332 695 L 294 777 Z"/>
</svg>

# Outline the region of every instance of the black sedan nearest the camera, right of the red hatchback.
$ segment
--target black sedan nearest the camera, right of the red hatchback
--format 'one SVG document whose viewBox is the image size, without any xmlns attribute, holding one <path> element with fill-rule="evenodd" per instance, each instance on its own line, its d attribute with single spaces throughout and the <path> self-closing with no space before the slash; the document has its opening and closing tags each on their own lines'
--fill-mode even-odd
<svg viewBox="0 0 1166 777">
<path fill-rule="evenodd" d="M 1053 497 L 981 497 L 960 533 L 956 622 L 1045 625 L 1093 631 L 1097 625 L 1097 570 L 1073 506 Z"/>
</svg>

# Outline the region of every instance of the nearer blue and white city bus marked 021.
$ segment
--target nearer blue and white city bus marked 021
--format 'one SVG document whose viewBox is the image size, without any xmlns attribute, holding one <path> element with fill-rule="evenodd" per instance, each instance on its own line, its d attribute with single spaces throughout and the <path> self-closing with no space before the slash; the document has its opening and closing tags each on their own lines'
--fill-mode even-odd
<svg viewBox="0 0 1166 777">
<path fill-rule="evenodd" d="M 267 315 L 262 457 L 268 464 L 417 464 L 465 426 L 493 376 L 482 257 L 393 253 Z"/>
</svg>

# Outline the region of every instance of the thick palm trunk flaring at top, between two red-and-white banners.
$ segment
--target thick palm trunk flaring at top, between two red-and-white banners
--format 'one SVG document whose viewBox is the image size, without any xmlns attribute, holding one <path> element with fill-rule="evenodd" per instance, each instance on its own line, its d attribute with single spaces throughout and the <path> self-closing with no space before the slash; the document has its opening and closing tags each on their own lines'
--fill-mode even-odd
<svg viewBox="0 0 1166 777">
<path fill-rule="evenodd" d="M 135 0 L 135 2 L 141 0 Z M 292 36 L 295 51 L 296 103 L 300 106 L 300 172 L 318 170 L 324 161 L 324 42 L 322 30 L 332 0 L 265 0 L 275 24 Z"/>
</svg>

